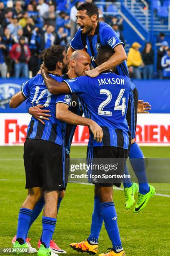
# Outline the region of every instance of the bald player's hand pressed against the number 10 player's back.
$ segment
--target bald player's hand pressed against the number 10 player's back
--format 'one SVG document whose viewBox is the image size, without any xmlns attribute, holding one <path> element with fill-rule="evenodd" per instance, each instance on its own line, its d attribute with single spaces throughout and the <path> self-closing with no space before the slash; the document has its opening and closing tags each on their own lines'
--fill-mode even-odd
<svg viewBox="0 0 170 256">
<path fill-rule="evenodd" d="M 38 121 L 40 121 L 42 124 L 45 124 L 42 119 L 44 120 L 50 120 L 48 117 L 50 117 L 50 110 L 42 109 L 44 106 L 37 105 L 35 107 L 29 108 L 29 114 L 32 115 L 34 118 L 36 118 Z M 40 118 L 41 117 L 41 118 Z"/>
</svg>

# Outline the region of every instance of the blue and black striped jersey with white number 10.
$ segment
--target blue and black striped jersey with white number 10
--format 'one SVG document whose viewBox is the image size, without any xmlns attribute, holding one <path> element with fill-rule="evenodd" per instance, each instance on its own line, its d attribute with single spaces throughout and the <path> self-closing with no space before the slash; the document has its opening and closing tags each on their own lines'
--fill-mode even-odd
<svg viewBox="0 0 170 256">
<path fill-rule="evenodd" d="M 56 74 L 49 75 L 58 82 L 63 80 L 62 77 Z M 65 146 L 65 129 L 67 124 L 56 118 L 55 108 L 57 102 L 62 102 L 69 105 L 71 102 L 71 95 L 51 94 L 47 89 L 41 74 L 38 74 L 27 82 L 23 83 L 22 92 L 23 95 L 28 98 L 32 107 L 38 104 L 43 105 L 45 106 L 44 109 L 50 110 L 51 115 L 49 121 L 44 120 L 45 125 L 32 117 L 28 125 L 26 138 L 52 141 L 61 146 Z"/>
</svg>

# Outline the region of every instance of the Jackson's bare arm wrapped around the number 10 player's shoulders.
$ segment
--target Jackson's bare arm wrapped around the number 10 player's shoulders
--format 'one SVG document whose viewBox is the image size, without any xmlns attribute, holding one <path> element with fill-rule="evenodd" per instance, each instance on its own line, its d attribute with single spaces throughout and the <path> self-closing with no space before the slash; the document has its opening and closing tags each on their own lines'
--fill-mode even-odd
<svg viewBox="0 0 170 256">
<path fill-rule="evenodd" d="M 41 64 L 41 74 L 49 92 L 57 93 L 70 93 L 70 89 L 65 82 L 57 82 L 55 79 L 48 75 L 48 70 L 44 64 Z"/>
</svg>

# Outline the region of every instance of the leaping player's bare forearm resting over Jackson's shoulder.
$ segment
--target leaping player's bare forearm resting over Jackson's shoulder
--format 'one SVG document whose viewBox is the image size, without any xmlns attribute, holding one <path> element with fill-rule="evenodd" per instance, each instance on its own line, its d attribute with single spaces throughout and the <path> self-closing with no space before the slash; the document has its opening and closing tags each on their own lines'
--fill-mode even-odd
<svg viewBox="0 0 170 256">
<path fill-rule="evenodd" d="M 122 44 L 117 45 L 114 48 L 114 51 L 115 53 L 110 57 L 110 59 L 108 59 L 106 62 L 102 63 L 95 69 L 86 71 L 86 75 L 89 77 L 97 77 L 103 71 L 112 69 L 113 67 L 118 66 L 127 59 L 127 55 Z"/>
</svg>

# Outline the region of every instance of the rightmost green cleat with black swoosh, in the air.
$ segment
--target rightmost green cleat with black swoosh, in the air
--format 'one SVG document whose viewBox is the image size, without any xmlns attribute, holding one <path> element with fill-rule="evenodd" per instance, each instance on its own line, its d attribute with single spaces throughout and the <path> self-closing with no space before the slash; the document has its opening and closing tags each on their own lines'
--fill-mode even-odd
<svg viewBox="0 0 170 256">
<path fill-rule="evenodd" d="M 134 213 L 138 213 L 141 210 L 143 210 L 146 207 L 150 198 L 153 197 L 153 195 L 155 194 L 155 188 L 151 185 L 149 185 L 149 188 L 150 188 L 150 191 L 147 194 L 143 195 L 143 194 L 139 193 L 138 202 L 137 202 L 135 208 L 133 209 Z"/>
</svg>

